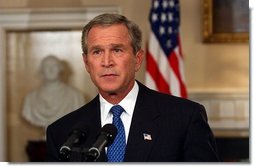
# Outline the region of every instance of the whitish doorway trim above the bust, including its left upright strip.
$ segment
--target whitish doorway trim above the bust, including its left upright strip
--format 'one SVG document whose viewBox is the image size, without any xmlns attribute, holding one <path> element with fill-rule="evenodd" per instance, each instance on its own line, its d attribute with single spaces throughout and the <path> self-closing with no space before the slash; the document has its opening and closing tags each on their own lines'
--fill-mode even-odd
<svg viewBox="0 0 254 167">
<path fill-rule="evenodd" d="M 0 10 L 0 161 L 6 156 L 6 32 L 33 29 L 82 29 L 102 13 L 121 13 L 119 7 L 1 9 Z"/>
</svg>

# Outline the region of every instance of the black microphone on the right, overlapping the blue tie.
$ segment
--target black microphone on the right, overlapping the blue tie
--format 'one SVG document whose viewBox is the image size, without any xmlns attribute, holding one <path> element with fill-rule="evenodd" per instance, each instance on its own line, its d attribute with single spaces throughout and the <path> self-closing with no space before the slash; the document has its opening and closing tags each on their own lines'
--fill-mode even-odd
<svg viewBox="0 0 254 167">
<path fill-rule="evenodd" d="M 86 160 L 88 162 L 96 161 L 103 149 L 113 143 L 117 134 L 117 129 L 113 124 L 106 124 L 102 127 L 100 134 L 97 137 L 97 140 L 88 150 L 86 154 Z"/>
</svg>

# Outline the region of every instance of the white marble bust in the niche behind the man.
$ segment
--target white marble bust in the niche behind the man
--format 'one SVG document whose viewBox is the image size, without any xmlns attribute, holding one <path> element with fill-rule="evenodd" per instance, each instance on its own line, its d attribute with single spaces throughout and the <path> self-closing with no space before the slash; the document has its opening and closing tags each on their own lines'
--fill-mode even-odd
<svg viewBox="0 0 254 167">
<path fill-rule="evenodd" d="M 83 95 L 60 80 L 62 62 L 47 56 L 41 62 L 43 84 L 25 97 L 22 116 L 31 124 L 46 128 L 63 115 L 85 104 Z"/>
</svg>

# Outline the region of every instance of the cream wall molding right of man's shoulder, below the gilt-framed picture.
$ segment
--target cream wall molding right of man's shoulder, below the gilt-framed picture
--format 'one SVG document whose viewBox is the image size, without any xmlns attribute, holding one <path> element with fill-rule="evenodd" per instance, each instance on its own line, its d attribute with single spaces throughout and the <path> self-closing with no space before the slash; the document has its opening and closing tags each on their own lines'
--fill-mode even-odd
<svg viewBox="0 0 254 167">
<path fill-rule="evenodd" d="M 208 121 L 219 136 L 248 136 L 249 93 L 246 92 L 198 92 L 189 99 L 203 104 Z"/>
</svg>

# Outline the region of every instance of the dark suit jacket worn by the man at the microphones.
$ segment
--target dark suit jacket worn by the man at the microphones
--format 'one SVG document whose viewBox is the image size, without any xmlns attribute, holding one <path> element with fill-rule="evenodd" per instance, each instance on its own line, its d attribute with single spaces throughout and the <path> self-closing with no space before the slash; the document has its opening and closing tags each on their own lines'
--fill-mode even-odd
<svg viewBox="0 0 254 167">
<path fill-rule="evenodd" d="M 153 91 L 138 82 L 139 93 L 126 146 L 126 162 L 219 161 L 212 131 L 202 105 Z M 47 128 L 47 161 L 59 160 L 59 149 L 78 122 L 90 126 L 84 147 L 100 132 L 100 102 L 91 102 Z M 144 140 L 144 133 L 152 140 Z M 107 161 L 105 152 L 98 161 Z"/>
</svg>

